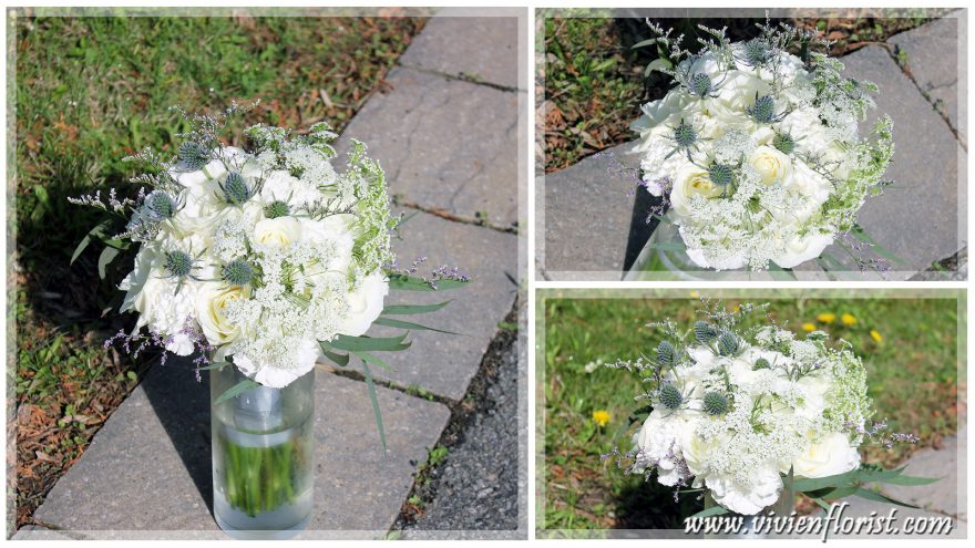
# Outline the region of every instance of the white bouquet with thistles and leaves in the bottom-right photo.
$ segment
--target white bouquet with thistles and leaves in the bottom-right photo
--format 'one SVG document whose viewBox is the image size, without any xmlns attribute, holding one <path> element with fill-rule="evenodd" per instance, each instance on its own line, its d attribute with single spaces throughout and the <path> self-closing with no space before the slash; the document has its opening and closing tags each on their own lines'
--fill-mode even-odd
<svg viewBox="0 0 975 548">
<path fill-rule="evenodd" d="M 740 329 L 746 314 L 763 308 L 715 306 L 689 331 L 654 323 L 665 334 L 654 359 L 607 365 L 649 384 L 638 396 L 648 415 L 633 451 L 612 454 L 618 464 L 647 480 L 656 474 L 663 485 L 704 492 L 714 505 L 698 516 L 755 515 L 782 497 L 791 511 L 796 493 L 825 508 L 827 499 L 850 495 L 902 504 L 862 485 L 934 482 L 861 462 L 864 443 L 917 440 L 872 422 L 864 368 L 845 341 L 828 345 L 822 331 L 800 340 L 774 324 Z"/>
</svg>

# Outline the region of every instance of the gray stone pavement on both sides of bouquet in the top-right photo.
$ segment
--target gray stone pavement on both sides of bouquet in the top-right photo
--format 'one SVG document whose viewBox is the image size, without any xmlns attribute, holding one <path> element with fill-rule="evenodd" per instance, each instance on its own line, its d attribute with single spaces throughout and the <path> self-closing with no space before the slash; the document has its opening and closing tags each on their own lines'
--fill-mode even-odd
<svg viewBox="0 0 975 548">
<path fill-rule="evenodd" d="M 848 74 L 880 85 L 878 108 L 862 127 L 872 127 L 880 113 L 890 114 L 894 120 L 896 148 L 887 177 L 895 180 L 895 185 L 887 188 L 884 196 L 869 199 L 859 216 L 868 234 L 906 261 L 906 266 L 893 265 L 900 271 L 893 272 L 891 279 L 907 279 L 967 246 L 967 182 L 964 180 L 967 153 L 955 138 L 951 123 L 928 101 L 935 95 L 943 99 L 951 120 L 953 111 L 948 100 L 957 96 L 951 85 L 957 80 L 961 30 L 957 21 L 935 21 L 892 39 L 892 43 L 900 40 L 909 51 L 914 81 L 880 45 L 842 58 Z M 935 24 L 938 27 L 932 28 Z M 916 60 L 913 65 L 911 59 Z M 965 89 L 965 74 L 955 82 L 959 90 Z M 964 103 L 961 101 L 961 106 L 954 108 L 963 130 Z M 632 144 L 624 144 L 612 152 L 628 166 L 636 167 L 638 158 L 625 154 L 630 147 Z M 624 258 L 629 252 L 627 246 L 634 240 L 643 241 L 634 237 L 639 235 L 632 232 L 630 221 L 636 219 L 634 211 L 644 208 L 634 207 L 635 199 L 626 196 L 629 184 L 610 175 L 609 169 L 610 162 L 606 158 L 588 157 L 536 179 L 536 203 L 545 208 L 537 216 L 536 227 L 536 263 L 544 268 L 540 270 L 540 278 L 619 279 Z M 636 196 L 647 199 L 645 192 Z M 862 279 L 845 251 L 832 246 L 827 252 L 854 270 L 846 278 Z M 824 279 L 815 263 L 805 263 L 796 270 L 802 272 L 803 278 Z"/>
</svg>

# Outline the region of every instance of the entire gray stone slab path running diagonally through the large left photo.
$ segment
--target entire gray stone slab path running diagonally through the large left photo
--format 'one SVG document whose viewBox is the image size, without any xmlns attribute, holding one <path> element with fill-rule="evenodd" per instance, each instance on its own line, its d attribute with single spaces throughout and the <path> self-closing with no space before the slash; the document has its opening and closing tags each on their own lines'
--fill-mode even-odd
<svg viewBox="0 0 975 548">
<path fill-rule="evenodd" d="M 380 387 L 387 456 L 366 384 L 317 375 L 316 505 L 299 538 L 386 535 L 412 488 L 417 464 L 448 424 L 448 405 L 463 399 L 515 300 L 509 277 L 519 278 L 519 238 L 506 227 L 517 221 L 520 92 L 506 89 L 511 74 L 502 69 L 517 64 L 511 29 L 519 23 L 517 18 L 431 20 L 390 72 L 391 91 L 370 99 L 340 138 L 340 149 L 351 137 L 367 143 L 400 204 L 430 211 L 407 209 L 417 215 L 393 242 L 400 262 L 427 256 L 429 268 L 421 273 L 456 265 L 474 281 L 458 291 L 396 291 L 388 298 L 389 303 L 453 299 L 419 322 L 462 334 L 417 332 L 410 350 L 383 356 L 393 371 L 376 371 L 378 380 L 419 386 L 447 403 Z M 488 83 L 451 77 L 458 74 Z M 479 211 L 493 228 L 468 221 Z M 209 508 L 209 451 L 206 383 L 197 384 L 185 365 L 156 366 L 34 514 L 58 530 L 24 528 L 18 538 L 223 538 Z M 517 463 L 523 456 L 510 458 Z"/>
</svg>

